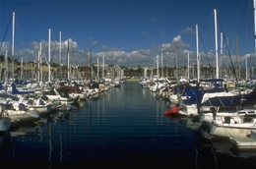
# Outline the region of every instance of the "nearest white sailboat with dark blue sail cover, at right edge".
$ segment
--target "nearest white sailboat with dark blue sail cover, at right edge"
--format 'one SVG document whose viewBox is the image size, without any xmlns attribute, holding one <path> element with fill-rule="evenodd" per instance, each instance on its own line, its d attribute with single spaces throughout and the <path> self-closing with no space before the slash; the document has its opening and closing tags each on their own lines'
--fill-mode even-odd
<svg viewBox="0 0 256 169">
<path fill-rule="evenodd" d="M 256 7 L 255 1 L 254 9 Z M 255 11 L 254 11 L 255 12 Z M 254 14 L 255 17 L 255 14 Z M 251 131 L 256 130 L 256 111 L 255 109 L 244 109 L 236 112 L 218 112 L 217 105 L 222 102 L 224 105 L 241 106 L 243 104 L 254 104 L 256 100 L 256 89 L 247 94 L 237 94 L 234 96 L 219 96 L 209 98 L 205 102 L 212 106 L 213 115 L 201 114 L 201 121 L 209 127 L 209 133 L 215 137 L 228 138 L 239 142 L 248 141 Z M 222 104 L 219 104 L 219 107 Z M 208 116 L 209 115 L 209 116 Z M 255 142 L 255 140 L 253 140 Z"/>
</svg>

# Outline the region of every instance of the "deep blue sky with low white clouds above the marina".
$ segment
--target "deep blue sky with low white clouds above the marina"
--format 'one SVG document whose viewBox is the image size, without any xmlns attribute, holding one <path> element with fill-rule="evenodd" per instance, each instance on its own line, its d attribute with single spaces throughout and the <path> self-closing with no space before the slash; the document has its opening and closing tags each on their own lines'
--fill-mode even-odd
<svg viewBox="0 0 256 169">
<path fill-rule="evenodd" d="M 244 66 L 244 58 L 254 53 L 253 0 L 1 0 L 0 54 L 8 50 L 11 56 L 12 22 L 9 28 L 8 24 L 15 12 L 14 57 L 18 60 L 35 60 L 39 42 L 46 60 L 50 28 L 53 62 L 59 61 L 61 31 L 62 64 L 66 64 L 68 39 L 71 64 L 89 64 L 86 56 L 91 48 L 93 62 L 96 58 L 102 62 L 104 56 L 105 64 L 156 66 L 155 58 L 162 53 L 163 66 L 174 66 L 176 51 L 178 65 L 187 64 L 187 51 L 190 64 L 196 64 L 198 25 L 201 62 L 216 65 L 214 9 L 219 56 L 221 32 L 228 37 L 233 59 L 238 34 L 239 63 Z M 223 63 L 229 64 L 228 56 Z"/>
</svg>

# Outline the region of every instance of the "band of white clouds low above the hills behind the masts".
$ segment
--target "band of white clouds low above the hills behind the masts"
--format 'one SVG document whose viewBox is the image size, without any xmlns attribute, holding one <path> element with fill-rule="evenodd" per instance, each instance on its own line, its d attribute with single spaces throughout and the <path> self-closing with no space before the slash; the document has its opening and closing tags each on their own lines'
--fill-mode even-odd
<svg viewBox="0 0 256 169">
<path fill-rule="evenodd" d="M 146 31 L 145 31 L 146 32 Z M 42 46 L 42 60 L 48 60 L 48 41 L 40 41 Z M 69 39 L 70 42 L 70 56 L 71 64 L 85 65 L 88 64 L 87 49 L 80 49 L 77 42 L 73 39 Z M 51 57 L 53 62 L 58 62 L 59 59 L 59 42 L 51 41 Z M 68 39 L 61 42 L 61 53 L 62 53 L 62 64 L 67 63 L 67 46 Z M 196 64 L 196 53 L 189 48 L 190 45 L 182 41 L 182 36 L 177 35 L 172 38 L 169 42 L 164 42 L 157 44 L 152 42 L 151 48 L 141 48 L 133 51 L 125 51 L 124 48 L 117 48 L 108 45 L 102 45 L 100 51 L 92 51 L 93 63 L 96 62 L 95 58 L 99 58 L 99 62 L 102 62 L 102 57 L 104 56 L 105 64 L 110 65 L 121 65 L 121 66 L 154 66 L 156 63 L 154 61 L 157 54 L 163 55 L 164 65 L 175 65 L 176 56 L 179 65 L 187 64 L 187 53 L 183 52 L 189 50 L 190 52 L 190 63 Z M 8 50 L 9 57 L 11 56 L 11 45 L 10 42 L 4 42 L 1 48 L 1 55 L 5 54 Z M 32 61 L 37 59 L 37 52 L 39 50 L 39 42 L 32 41 L 30 47 L 26 49 L 15 49 L 15 59 L 21 60 L 24 57 L 24 61 Z M 177 54 L 177 55 L 176 55 Z M 246 54 L 243 58 L 248 58 L 251 54 Z M 89 53 L 88 57 L 91 54 Z M 215 52 L 213 50 L 209 51 L 207 54 L 205 52 L 200 52 L 201 63 L 215 66 Z M 232 59 L 235 57 L 232 56 Z M 223 63 L 229 63 L 229 57 L 225 57 Z M 244 60 L 240 60 L 244 63 Z"/>
</svg>

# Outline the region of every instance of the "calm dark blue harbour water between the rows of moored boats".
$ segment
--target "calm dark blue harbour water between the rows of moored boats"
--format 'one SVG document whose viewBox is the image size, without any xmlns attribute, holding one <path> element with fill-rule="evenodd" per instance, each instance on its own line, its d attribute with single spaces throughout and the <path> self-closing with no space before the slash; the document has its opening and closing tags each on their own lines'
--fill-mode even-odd
<svg viewBox="0 0 256 169">
<path fill-rule="evenodd" d="M 163 116 L 169 106 L 137 83 L 110 88 L 98 98 L 80 102 L 78 110 L 19 124 L 10 132 L 10 142 L 2 145 L 0 164 L 13 168 L 224 168 L 227 163 L 255 167 L 251 154 L 230 154 L 224 141 L 215 142 L 221 149 L 214 152 L 212 144 L 202 143 L 197 130 L 191 129 L 197 125 L 191 120 Z"/>
</svg>

